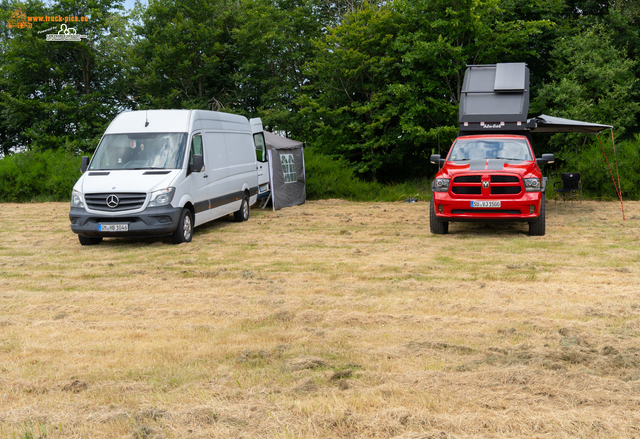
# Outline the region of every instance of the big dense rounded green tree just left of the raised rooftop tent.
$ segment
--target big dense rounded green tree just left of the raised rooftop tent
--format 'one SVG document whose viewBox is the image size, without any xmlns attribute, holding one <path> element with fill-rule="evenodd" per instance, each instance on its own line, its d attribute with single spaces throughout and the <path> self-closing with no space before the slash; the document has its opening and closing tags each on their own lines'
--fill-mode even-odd
<svg viewBox="0 0 640 439">
<path fill-rule="evenodd" d="M 439 141 L 455 137 L 466 65 L 521 61 L 550 24 L 511 20 L 497 0 L 365 5 L 316 43 L 296 101 L 307 137 L 361 175 L 421 175 Z"/>
</svg>

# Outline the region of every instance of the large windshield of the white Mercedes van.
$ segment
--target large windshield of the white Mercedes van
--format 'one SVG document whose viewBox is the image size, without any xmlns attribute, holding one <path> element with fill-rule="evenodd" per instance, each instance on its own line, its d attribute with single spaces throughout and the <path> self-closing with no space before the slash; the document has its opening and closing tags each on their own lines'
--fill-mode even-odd
<svg viewBox="0 0 640 439">
<path fill-rule="evenodd" d="M 186 138 L 186 133 L 107 134 L 89 169 L 179 169 Z"/>
</svg>

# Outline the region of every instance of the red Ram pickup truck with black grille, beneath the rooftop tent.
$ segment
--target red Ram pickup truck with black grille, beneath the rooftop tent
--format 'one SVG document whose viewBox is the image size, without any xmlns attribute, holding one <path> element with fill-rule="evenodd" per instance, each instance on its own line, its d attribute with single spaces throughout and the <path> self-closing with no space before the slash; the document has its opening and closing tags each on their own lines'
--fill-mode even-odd
<svg viewBox="0 0 640 439">
<path fill-rule="evenodd" d="M 432 183 L 431 233 L 445 234 L 449 222 L 528 222 L 529 235 L 545 234 L 545 189 L 539 164 L 553 163 L 553 154 L 536 159 L 527 136 L 469 135 L 458 137 Z"/>
</svg>

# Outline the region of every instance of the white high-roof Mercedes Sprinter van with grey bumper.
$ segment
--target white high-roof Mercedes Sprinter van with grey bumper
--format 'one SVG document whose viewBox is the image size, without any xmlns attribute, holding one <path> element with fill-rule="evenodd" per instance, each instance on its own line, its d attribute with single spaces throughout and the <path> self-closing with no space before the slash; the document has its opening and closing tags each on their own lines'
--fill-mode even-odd
<svg viewBox="0 0 640 439">
<path fill-rule="evenodd" d="M 249 219 L 258 172 L 249 121 L 203 110 L 120 113 L 71 194 L 71 230 L 82 245 L 104 237 L 171 236 L 233 213 Z"/>
</svg>

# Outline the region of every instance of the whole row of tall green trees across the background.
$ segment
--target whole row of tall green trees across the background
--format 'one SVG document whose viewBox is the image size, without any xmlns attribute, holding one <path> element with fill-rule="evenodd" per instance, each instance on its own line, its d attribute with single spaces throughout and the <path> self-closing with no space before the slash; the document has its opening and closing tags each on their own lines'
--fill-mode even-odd
<svg viewBox="0 0 640 439">
<path fill-rule="evenodd" d="M 198 108 L 261 117 L 267 129 L 340 159 L 365 180 L 424 178 L 435 172 L 430 154 L 446 152 L 456 136 L 466 66 L 526 62 L 530 116 L 613 125 L 621 167 L 630 170 L 625 184 L 635 187 L 638 178 L 640 0 L 0 6 L 5 157 L 25 150 L 89 154 L 121 111 Z M 69 24 L 87 38 L 47 41 L 58 23 L 9 27 L 17 10 L 88 17 Z M 593 136 L 534 140 L 537 153 L 554 152 L 559 166 L 573 170 L 588 170 L 599 157 Z"/>
</svg>

